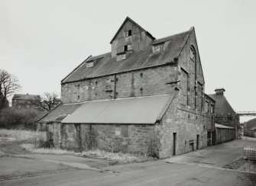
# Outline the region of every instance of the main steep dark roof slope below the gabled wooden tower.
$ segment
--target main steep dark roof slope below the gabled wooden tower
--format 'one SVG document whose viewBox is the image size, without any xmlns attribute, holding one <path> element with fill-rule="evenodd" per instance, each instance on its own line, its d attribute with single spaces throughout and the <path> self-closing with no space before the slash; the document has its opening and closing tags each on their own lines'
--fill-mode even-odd
<svg viewBox="0 0 256 186">
<path fill-rule="evenodd" d="M 111 75 L 120 72 L 128 72 L 135 69 L 144 69 L 152 66 L 160 66 L 166 63 L 173 63 L 173 60 L 180 55 L 186 40 L 190 36 L 190 30 L 175 34 L 170 37 L 164 37 L 160 40 L 154 40 L 150 46 L 147 46 L 145 50 L 133 51 L 127 59 L 116 61 L 116 58 L 111 56 L 111 53 L 105 53 L 100 56 L 91 56 L 86 61 L 102 58 L 92 68 L 86 69 L 86 61 L 79 65 L 73 72 L 70 73 L 62 83 L 75 82 L 83 79 L 96 78 L 102 75 Z M 152 44 L 157 42 L 164 42 L 170 40 L 167 49 L 160 53 L 152 53 Z"/>
</svg>

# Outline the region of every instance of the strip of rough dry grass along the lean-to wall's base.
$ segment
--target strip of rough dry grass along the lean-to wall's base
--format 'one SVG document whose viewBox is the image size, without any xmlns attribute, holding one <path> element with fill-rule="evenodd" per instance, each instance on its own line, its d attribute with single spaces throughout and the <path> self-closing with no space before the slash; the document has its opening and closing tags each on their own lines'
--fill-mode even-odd
<svg viewBox="0 0 256 186">
<path fill-rule="evenodd" d="M 138 156 L 135 154 L 122 153 L 122 152 L 107 152 L 99 149 L 92 149 L 84 152 L 74 152 L 66 149 L 36 148 L 36 146 L 34 146 L 34 144 L 31 144 L 31 143 L 21 144 L 21 147 L 30 152 L 39 153 L 39 154 L 73 155 L 73 156 L 82 156 L 90 159 L 105 159 L 112 162 L 112 165 L 125 164 L 125 163 L 131 163 L 131 162 L 146 162 L 154 159 L 148 156 Z"/>
</svg>

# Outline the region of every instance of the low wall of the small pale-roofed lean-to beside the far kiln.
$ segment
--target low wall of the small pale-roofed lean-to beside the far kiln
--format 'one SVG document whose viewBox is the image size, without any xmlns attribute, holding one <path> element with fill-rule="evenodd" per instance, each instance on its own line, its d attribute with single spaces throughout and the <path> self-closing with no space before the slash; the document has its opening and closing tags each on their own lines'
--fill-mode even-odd
<svg viewBox="0 0 256 186">
<path fill-rule="evenodd" d="M 235 139 L 235 129 L 215 128 L 215 145 Z"/>
</svg>

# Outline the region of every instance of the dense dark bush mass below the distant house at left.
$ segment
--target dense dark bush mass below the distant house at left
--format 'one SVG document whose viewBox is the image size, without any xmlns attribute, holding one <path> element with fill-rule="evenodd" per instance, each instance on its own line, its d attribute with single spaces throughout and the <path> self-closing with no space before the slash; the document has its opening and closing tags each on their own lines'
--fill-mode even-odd
<svg viewBox="0 0 256 186">
<path fill-rule="evenodd" d="M 6 129 L 36 130 L 40 113 L 34 109 L 8 107 L 0 111 L 0 127 Z"/>
</svg>

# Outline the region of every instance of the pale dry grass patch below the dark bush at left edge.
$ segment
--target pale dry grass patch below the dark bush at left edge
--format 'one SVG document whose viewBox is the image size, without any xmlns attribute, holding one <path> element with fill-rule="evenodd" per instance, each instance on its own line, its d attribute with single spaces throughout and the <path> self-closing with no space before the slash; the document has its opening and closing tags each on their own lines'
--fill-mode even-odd
<svg viewBox="0 0 256 186">
<path fill-rule="evenodd" d="M 33 141 L 35 139 L 37 139 L 36 131 L 0 129 L 0 141 Z"/>
</svg>

